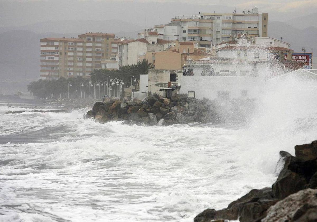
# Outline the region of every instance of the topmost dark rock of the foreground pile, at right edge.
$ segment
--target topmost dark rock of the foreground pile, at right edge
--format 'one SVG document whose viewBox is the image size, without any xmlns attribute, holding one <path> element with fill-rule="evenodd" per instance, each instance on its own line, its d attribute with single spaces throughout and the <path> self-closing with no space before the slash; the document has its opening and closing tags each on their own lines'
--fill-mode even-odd
<svg viewBox="0 0 317 222">
<path fill-rule="evenodd" d="M 310 144 L 295 146 L 295 157 L 300 161 L 317 159 L 317 140 Z"/>
</svg>

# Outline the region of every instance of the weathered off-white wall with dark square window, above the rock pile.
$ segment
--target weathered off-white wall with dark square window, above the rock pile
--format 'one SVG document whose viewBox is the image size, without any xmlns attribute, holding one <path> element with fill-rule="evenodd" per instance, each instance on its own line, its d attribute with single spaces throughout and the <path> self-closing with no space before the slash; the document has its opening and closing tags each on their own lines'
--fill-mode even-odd
<svg viewBox="0 0 317 222">
<path fill-rule="evenodd" d="M 163 95 L 159 89 L 168 87 L 171 73 L 176 73 L 177 81 L 171 83 L 177 85 L 179 76 L 183 75 L 183 70 L 150 69 L 148 74 L 148 91 Z"/>
</svg>

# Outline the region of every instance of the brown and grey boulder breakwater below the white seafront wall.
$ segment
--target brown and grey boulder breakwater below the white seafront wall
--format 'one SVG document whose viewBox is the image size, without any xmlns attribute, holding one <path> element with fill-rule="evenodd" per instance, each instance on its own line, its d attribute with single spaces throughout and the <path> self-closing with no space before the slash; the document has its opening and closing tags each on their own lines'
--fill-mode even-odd
<svg viewBox="0 0 317 222">
<path fill-rule="evenodd" d="M 176 123 L 218 121 L 210 100 L 196 100 L 187 94 L 177 94 L 168 98 L 150 94 L 144 100 L 135 98 L 104 97 L 96 101 L 86 118 L 94 118 L 100 123 L 125 121 L 125 124 L 168 126 Z"/>
</svg>

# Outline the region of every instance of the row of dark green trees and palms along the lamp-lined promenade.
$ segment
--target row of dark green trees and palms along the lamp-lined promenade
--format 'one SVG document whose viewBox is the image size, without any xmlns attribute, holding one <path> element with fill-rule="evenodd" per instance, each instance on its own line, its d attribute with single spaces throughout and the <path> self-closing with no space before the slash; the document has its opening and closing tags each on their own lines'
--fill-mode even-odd
<svg viewBox="0 0 317 222">
<path fill-rule="evenodd" d="M 149 69 L 153 68 L 153 64 L 148 62 L 148 60 L 139 61 L 137 64 L 131 64 L 126 66 L 120 66 L 116 70 L 107 69 L 94 69 L 90 73 L 90 79 L 83 76 L 70 77 L 68 79 L 61 77 L 59 79 L 53 80 L 38 80 L 28 84 L 28 91 L 32 95 L 35 95 L 38 99 L 57 99 L 57 98 L 67 98 L 69 90 L 69 98 L 79 98 L 80 93 L 82 93 L 82 98 L 88 98 L 88 92 L 90 97 L 94 94 L 94 82 L 105 82 L 107 77 L 111 76 L 112 79 L 118 78 L 122 79 L 125 86 L 130 86 L 131 77 L 135 76 L 139 80 L 139 76 L 143 74 L 148 74 Z M 110 80 L 110 78 L 108 78 Z M 90 83 L 91 84 L 90 84 Z M 70 85 L 71 86 L 68 86 Z M 80 87 L 80 85 L 83 85 Z M 90 87 L 90 88 L 89 88 Z M 102 86 L 101 86 L 102 87 Z M 99 88 L 96 88 L 99 90 Z M 100 88 L 102 91 L 103 88 Z M 103 91 L 102 91 L 103 92 Z"/>
</svg>

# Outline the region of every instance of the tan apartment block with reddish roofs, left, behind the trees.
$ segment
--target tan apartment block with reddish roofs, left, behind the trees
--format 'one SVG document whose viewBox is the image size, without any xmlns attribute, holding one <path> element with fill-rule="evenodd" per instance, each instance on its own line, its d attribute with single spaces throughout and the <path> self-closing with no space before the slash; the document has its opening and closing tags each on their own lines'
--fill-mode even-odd
<svg viewBox="0 0 317 222">
<path fill-rule="evenodd" d="M 115 34 L 85 33 L 78 38 L 41 39 L 42 79 L 87 76 L 101 68 L 101 61 L 115 60 L 117 52 L 111 42 Z"/>
</svg>

